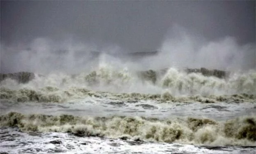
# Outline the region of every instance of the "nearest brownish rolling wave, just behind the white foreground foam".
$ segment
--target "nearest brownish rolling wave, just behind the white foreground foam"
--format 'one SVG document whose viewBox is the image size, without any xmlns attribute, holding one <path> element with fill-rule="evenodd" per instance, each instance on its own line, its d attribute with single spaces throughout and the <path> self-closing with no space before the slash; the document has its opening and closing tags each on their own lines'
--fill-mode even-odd
<svg viewBox="0 0 256 154">
<path fill-rule="evenodd" d="M 215 146 L 254 146 L 256 143 L 255 116 L 220 122 L 200 118 L 160 120 L 127 116 L 79 117 L 9 112 L 0 116 L 0 122 L 1 127 L 18 127 L 23 132 L 67 132 L 77 136 Z"/>
</svg>

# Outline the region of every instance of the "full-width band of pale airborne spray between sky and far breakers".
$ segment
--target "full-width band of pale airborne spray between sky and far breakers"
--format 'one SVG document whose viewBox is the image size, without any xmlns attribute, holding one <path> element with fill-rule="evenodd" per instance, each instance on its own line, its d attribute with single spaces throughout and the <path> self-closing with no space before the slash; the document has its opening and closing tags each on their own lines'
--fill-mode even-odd
<svg viewBox="0 0 256 154">
<path fill-rule="evenodd" d="M 175 25 L 166 34 L 155 56 L 127 56 L 118 45 L 97 45 L 79 40 L 64 41 L 36 38 L 28 44 L 1 44 L 1 72 L 30 71 L 45 74 L 52 71 L 79 73 L 102 63 L 129 69 L 164 69 L 189 67 L 229 71 L 255 69 L 255 44 L 238 45 L 235 38 L 205 41 Z M 140 52 L 140 51 L 134 51 Z"/>
</svg>

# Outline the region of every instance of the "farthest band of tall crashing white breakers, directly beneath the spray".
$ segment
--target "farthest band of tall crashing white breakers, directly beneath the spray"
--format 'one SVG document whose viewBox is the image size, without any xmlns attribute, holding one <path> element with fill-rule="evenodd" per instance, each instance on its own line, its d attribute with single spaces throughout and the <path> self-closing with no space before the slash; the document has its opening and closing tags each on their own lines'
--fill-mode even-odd
<svg viewBox="0 0 256 154">
<path fill-rule="evenodd" d="M 255 71 L 131 71 L 104 66 L 81 74 L 19 72 L 0 77 L 0 98 L 19 102 L 64 102 L 86 96 L 205 103 L 256 100 Z"/>
</svg>

